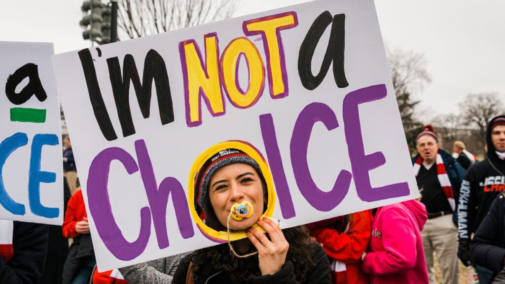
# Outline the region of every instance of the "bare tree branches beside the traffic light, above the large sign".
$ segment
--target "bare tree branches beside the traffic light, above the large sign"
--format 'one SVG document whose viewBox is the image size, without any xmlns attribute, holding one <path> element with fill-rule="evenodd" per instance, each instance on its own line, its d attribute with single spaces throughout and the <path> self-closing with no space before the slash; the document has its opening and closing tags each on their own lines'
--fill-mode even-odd
<svg viewBox="0 0 505 284">
<path fill-rule="evenodd" d="M 236 0 L 119 0 L 121 37 L 141 37 L 227 19 Z M 124 38 L 123 38 L 124 39 Z"/>
</svg>

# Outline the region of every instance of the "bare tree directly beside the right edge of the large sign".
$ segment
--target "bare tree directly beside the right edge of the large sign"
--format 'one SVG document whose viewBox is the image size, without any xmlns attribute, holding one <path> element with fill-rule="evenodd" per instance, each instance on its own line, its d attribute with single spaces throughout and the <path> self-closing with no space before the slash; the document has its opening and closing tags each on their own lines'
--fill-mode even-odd
<svg viewBox="0 0 505 284">
<path fill-rule="evenodd" d="M 420 101 L 416 101 L 413 94 L 422 91 L 431 82 L 426 59 L 421 53 L 400 49 L 386 49 L 386 53 L 403 130 L 411 149 L 414 149 L 415 137 L 423 125 L 414 116 L 415 107 Z"/>
</svg>

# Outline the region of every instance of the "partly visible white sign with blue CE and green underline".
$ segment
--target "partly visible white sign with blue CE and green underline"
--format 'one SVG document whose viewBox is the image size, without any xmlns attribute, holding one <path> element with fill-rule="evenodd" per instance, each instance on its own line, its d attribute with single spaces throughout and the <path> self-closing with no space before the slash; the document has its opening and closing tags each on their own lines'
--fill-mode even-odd
<svg viewBox="0 0 505 284">
<path fill-rule="evenodd" d="M 53 54 L 52 43 L 0 41 L 0 219 L 63 223 Z"/>
</svg>

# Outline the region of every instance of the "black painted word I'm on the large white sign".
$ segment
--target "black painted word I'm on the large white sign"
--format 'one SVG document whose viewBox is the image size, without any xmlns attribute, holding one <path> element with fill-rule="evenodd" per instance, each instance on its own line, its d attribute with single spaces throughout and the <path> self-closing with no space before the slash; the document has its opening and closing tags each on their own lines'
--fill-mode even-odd
<svg viewBox="0 0 505 284">
<path fill-rule="evenodd" d="M 98 126 L 107 140 L 115 140 L 117 139 L 117 135 L 98 85 L 91 53 L 88 49 L 81 50 L 79 58 Z M 140 76 L 138 75 L 133 56 L 129 54 L 125 56 L 123 60 L 123 74 L 121 74 L 118 57 L 107 59 L 107 64 L 109 66 L 109 78 L 111 80 L 114 102 L 118 111 L 123 137 L 135 134 L 129 100 L 130 81 L 133 83 L 138 105 L 144 118 L 149 117 L 151 89 L 154 80 L 162 125 L 174 121 L 172 94 L 170 92 L 167 67 L 159 53 L 155 50 L 150 50 L 147 53 L 144 61 L 142 82 L 140 82 Z"/>
</svg>

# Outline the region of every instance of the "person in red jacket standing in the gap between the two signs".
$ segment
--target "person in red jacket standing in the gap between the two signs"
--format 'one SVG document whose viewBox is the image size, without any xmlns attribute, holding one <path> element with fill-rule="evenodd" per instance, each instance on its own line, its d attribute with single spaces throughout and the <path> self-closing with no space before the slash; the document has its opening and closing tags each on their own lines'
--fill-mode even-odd
<svg viewBox="0 0 505 284">
<path fill-rule="evenodd" d="M 62 283 L 88 283 L 96 260 L 81 190 L 68 201 L 62 230 L 65 238 L 74 239 L 63 267 Z"/>
</svg>

